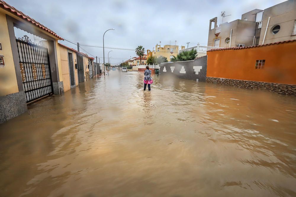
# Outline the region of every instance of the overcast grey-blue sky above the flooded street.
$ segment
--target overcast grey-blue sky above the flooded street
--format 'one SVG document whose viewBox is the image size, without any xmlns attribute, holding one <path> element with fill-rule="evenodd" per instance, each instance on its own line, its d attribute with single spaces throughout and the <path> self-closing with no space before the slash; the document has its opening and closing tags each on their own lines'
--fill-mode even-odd
<svg viewBox="0 0 296 197">
<path fill-rule="evenodd" d="M 284 2 L 283 0 L 226 0 L 226 1 L 129 1 L 129 0 L 6 0 L 6 2 L 36 21 L 53 30 L 63 38 L 81 44 L 135 49 L 142 45 L 147 49 L 161 45 L 175 44 L 187 47 L 207 44 L 209 20 L 218 17 L 221 11 L 226 15 L 224 22 L 241 19 L 241 15 L 253 9 L 266 9 Z M 71 48 L 77 46 L 59 41 Z M 103 56 L 102 48 L 82 46 L 90 56 Z M 80 49 L 81 52 L 83 49 Z M 111 63 L 136 56 L 135 51 L 105 49 L 110 52 Z M 145 52 L 146 53 L 146 52 Z M 100 58 L 102 61 L 102 58 Z M 99 60 L 98 60 L 99 61 Z M 107 57 L 105 57 L 107 61 Z"/>
</svg>

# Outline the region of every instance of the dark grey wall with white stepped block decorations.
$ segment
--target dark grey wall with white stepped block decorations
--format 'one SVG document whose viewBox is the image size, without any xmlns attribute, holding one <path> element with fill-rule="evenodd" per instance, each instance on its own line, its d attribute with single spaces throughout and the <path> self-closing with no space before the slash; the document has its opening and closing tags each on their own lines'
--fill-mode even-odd
<svg viewBox="0 0 296 197">
<path fill-rule="evenodd" d="M 159 74 L 205 82 L 207 75 L 207 56 L 190 61 L 162 63 L 160 64 Z"/>
</svg>

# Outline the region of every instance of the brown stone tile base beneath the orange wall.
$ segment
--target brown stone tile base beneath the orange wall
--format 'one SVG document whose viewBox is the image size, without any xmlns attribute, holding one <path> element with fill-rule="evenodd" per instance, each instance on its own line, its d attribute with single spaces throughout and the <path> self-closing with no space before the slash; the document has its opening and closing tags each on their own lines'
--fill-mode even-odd
<svg viewBox="0 0 296 197">
<path fill-rule="evenodd" d="M 245 81 L 237 79 L 226 79 L 217 77 L 207 77 L 208 83 L 219 83 L 223 85 L 231 85 L 239 88 L 268 90 L 279 94 L 296 95 L 296 85 L 267 83 L 259 81 Z"/>
</svg>

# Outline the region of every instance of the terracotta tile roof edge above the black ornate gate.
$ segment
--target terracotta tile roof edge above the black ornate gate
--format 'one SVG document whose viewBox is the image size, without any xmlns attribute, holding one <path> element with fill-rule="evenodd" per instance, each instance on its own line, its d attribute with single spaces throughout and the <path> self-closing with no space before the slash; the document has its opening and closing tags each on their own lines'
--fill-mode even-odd
<svg viewBox="0 0 296 197">
<path fill-rule="evenodd" d="M 15 7 L 7 4 L 5 1 L 0 0 L 0 7 L 7 10 L 8 12 L 11 12 L 12 14 L 14 14 L 17 17 L 20 17 L 23 20 L 27 20 L 28 22 L 32 23 L 33 25 L 36 25 L 37 27 L 51 33 L 52 35 L 54 35 L 55 37 L 59 38 L 60 40 L 64 40 L 62 37 L 58 36 L 56 33 L 54 33 L 52 30 L 50 30 L 49 28 L 45 27 L 44 25 L 42 25 L 41 23 L 37 22 L 36 20 L 34 20 L 33 18 L 29 17 L 28 15 L 24 14 L 23 12 L 15 9 Z"/>
</svg>

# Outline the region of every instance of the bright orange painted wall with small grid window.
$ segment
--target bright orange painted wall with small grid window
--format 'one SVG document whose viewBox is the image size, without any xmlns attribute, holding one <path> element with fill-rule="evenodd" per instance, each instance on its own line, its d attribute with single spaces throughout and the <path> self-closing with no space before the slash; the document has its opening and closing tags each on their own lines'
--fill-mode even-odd
<svg viewBox="0 0 296 197">
<path fill-rule="evenodd" d="M 296 84 L 296 40 L 246 49 L 207 52 L 207 77 Z M 255 69 L 265 59 L 264 69 Z"/>
</svg>

